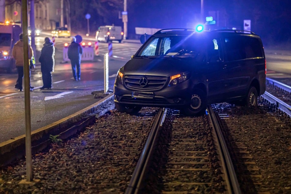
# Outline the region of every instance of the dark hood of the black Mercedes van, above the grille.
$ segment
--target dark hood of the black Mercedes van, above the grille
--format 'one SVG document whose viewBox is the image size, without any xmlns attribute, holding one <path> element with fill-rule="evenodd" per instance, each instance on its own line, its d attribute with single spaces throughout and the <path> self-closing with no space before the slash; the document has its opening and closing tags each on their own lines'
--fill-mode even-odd
<svg viewBox="0 0 291 194">
<path fill-rule="evenodd" d="M 173 76 L 178 73 L 188 72 L 193 66 L 192 58 L 132 58 L 122 68 L 125 75 L 155 75 Z"/>
</svg>

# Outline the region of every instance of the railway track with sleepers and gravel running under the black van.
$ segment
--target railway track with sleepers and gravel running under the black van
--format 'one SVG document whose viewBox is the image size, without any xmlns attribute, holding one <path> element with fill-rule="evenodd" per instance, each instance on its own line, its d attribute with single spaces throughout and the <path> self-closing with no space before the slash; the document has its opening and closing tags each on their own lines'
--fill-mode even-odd
<svg viewBox="0 0 291 194">
<path fill-rule="evenodd" d="M 222 132 L 208 109 L 208 116 L 197 118 L 166 109 L 125 193 L 241 193 Z"/>
</svg>

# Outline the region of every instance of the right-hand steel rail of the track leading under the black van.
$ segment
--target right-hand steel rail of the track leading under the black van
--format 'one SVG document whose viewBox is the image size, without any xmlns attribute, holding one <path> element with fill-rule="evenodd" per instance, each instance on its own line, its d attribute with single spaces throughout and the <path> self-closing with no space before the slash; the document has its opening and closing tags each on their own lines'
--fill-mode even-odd
<svg viewBox="0 0 291 194">
<path fill-rule="evenodd" d="M 233 167 L 233 163 L 231 161 L 230 155 L 229 155 L 229 151 L 227 149 L 225 140 L 223 138 L 221 129 L 219 127 L 218 121 L 216 120 L 215 114 L 211 108 L 210 105 L 207 106 L 207 110 L 208 110 L 208 115 L 210 118 L 210 122 L 213 126 L 214 129 L 214 135 L 215 138 L 218 141 L 218 149 L 221 153 L 221 162 L 222 162 L 222 166 L 226 172 L 225 177 L 226 177 L 226 185 L 228 187 L 228 191 L 229 193 L 233 193 L 233 194 L 241 194 L 241 189 L 239 186 L 239 183 L 237 181 L 237 176 Z"/>
</svg>

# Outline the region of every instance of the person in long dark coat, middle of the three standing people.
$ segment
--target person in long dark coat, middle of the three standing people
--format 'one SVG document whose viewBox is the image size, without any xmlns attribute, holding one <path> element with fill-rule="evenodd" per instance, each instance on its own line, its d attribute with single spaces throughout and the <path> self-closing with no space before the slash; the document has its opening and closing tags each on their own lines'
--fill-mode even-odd
<svg viewBox="0 0 291 194">
<path fill-rule="evenodd" d="M 52 72 L 54 72 L 54 54 L 55 48 L 54 43 L 51 42 L 50 38 L 44 39 L 43 48 L 39 57 L 41 73 L 43 74 L 43 87 L 40 89 L 51 89 L 52 88 Z"/>
</svg>

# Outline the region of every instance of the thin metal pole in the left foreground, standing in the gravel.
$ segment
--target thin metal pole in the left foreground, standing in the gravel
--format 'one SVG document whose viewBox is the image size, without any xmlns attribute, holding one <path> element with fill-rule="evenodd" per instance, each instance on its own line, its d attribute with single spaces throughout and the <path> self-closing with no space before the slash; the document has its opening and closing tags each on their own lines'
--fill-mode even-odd
<svg viewBox="0 0 291 194">
<path fill-rule="evenodd" d="M 31 120 L 30 120 L 30 79 L 28 59 L 28 4 L 22 0 L 22 30 L 23 30 L 23 58 L 24 58 L 24 106 L 25 106 L 25 151 L 26 151 L 26 177 L 32 181 L 32 152 L 31 152 Z"/>
</svg>

